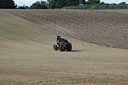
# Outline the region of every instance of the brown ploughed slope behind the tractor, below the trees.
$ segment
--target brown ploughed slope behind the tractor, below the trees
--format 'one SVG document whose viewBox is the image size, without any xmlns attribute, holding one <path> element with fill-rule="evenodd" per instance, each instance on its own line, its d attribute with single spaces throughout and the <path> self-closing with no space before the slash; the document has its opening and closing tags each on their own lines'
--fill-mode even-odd
<svg viewBox="0 0 128 85">
<path fill-rule="evenodd" d="M 90 10 L 7 10 L 26 20 L 41 24 L 86 42 L 128 49 L 128 11 Z"/>
</svg>

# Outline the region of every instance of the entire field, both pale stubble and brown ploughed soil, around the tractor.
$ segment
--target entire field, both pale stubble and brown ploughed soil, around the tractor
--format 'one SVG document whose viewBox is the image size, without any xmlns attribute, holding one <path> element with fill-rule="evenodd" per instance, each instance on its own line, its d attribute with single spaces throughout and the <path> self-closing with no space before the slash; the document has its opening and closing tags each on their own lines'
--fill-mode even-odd
<svg viewBox="0 0 128 85">
<path fill-rule="evenodd" d="M 127 48 L 127 12 L 86 12 L 0 10 L 0 85 L 128 85 L 128 50 L 119 49 Z M 72 52 L 53 50 L 58 34 L 72 42 Z"/>
</svg>

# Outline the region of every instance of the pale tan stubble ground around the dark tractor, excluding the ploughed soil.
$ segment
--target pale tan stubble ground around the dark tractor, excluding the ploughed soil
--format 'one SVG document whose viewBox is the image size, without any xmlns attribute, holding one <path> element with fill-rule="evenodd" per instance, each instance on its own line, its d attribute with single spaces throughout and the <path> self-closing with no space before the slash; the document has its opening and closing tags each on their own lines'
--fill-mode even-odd
<svg viewBox="0 0 128 85">
<path fill-rule="evenodd" d="M 73 51 L 54 51 L 57 35 L 0 11 L 0 85 L 128 85 L 127 50 L 63 36 Z"/>
</svg>

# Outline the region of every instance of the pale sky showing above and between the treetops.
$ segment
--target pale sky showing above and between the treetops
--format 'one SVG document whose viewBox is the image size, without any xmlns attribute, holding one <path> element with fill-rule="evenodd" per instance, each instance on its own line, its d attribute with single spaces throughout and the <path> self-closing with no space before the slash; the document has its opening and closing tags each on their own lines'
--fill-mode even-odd
<svg viewBox="0 0 128 85">
<path fill-rule="evenodd" d="M 36 1 L 47 1 L 47 0 L 14 0 L 14 1 L 18 6 L 23 6 L 23 5 L 30 6 Z M 100 1 L 105 3 L 120 3 L 120 2 L 128 3 L 128 0 L 100 0 Z"/>
</svg>

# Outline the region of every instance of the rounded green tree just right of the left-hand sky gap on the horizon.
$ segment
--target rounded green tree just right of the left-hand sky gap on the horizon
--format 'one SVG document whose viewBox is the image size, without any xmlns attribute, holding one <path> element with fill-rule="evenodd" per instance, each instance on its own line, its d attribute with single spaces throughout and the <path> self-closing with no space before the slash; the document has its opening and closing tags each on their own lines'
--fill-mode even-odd
<svg viewBox="0 0 128 85">
<path fill-rule="evenodd" d="M 30 6 L 31 9 L 47 9 L 48 4 L 45 1 L 37 1 Z"/>
</svg>

